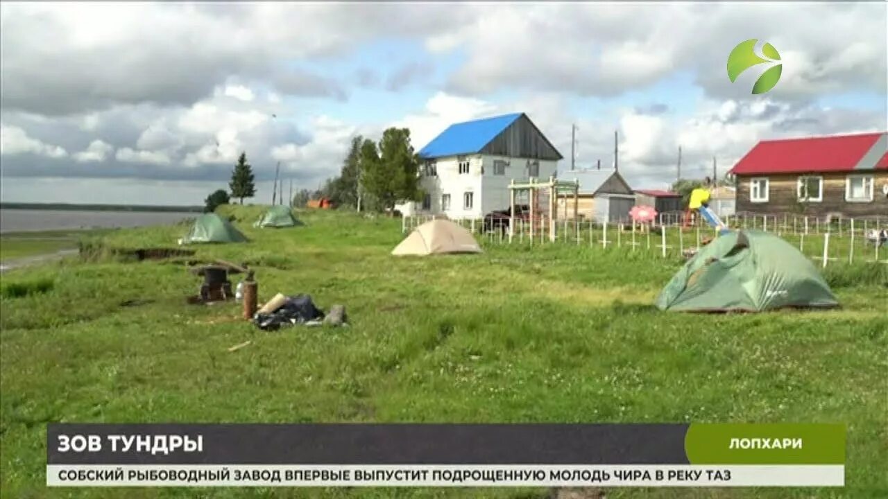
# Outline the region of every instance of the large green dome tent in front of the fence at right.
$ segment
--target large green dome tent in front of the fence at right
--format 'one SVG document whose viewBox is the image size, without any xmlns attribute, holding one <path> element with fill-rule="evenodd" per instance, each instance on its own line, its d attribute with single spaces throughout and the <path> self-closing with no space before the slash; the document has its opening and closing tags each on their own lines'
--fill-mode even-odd
<svg viewBox="0 0 888 499">
<path fill-rule="evenodd" d="M 660 310 L 761 312 L 838 302 L 808 258 L 780 237 L 731 232 L 702 247 L 657 297 Z"/>
</svg>

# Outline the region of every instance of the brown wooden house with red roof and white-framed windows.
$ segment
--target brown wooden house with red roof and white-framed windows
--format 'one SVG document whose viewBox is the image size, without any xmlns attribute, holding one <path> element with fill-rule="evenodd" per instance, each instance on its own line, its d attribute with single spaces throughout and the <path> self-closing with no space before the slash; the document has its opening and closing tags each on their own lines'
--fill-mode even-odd
<svg viewBox="0 0 888 499">
<path fill-rule="evenodd" d="M 737 212 L 888 218 L 888 132 L 763 140 L 730 173 Z"/>
</svg>

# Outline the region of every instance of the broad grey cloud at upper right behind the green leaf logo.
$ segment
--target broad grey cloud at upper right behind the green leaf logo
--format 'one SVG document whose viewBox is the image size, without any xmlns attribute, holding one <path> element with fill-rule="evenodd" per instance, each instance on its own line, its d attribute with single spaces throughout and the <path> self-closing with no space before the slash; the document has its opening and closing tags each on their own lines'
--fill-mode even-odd
<svg viewBox="0 0 888 499">
<path fill-rule="evenodd" d="M 448 90 L 461 94 L 521 88 L 611 96 L 686 71 L 710 97 L 749 100 L 755 71 L 751 82 L 732 84 L 725 59 L 750 37 L 780 51 L 784 75 L 773 92 L 781 99 L 885 91 L 888 49 L 871 42 L 884 39 L 885 4 L 811 4 L 805 11 L 791 4 L 475 7 L 473 22 L 427 39 L 433 51 L 466 51 L 448 80 Z M 823 19 L 830 20 L 828 37 Z"/>
</svg>

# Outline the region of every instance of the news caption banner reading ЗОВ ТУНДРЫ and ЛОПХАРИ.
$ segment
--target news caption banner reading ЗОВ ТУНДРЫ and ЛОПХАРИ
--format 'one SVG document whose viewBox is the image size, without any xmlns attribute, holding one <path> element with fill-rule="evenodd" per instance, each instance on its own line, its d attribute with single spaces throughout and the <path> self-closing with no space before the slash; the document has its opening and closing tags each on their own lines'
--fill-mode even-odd
<svg viewBox="0 0 888 499">
<path fill-rule="evenodd" d="M 49 424 L 50 487 L 843 487 L 842 424 Z"/>
</svg>

